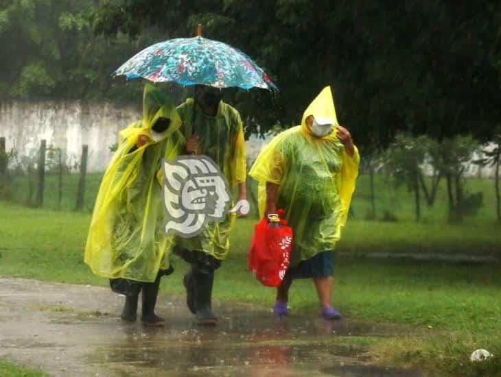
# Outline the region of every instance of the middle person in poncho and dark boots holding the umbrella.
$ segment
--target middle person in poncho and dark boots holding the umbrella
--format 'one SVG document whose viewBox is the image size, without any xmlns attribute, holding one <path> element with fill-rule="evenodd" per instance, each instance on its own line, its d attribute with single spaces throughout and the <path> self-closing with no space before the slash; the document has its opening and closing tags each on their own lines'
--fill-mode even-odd
<svg viewBox="0 0 501 377">
<path fill-rule="evenodd" d="M 218 88 L 197 85 L 194 99 L 178 106 L 183 121 L 180 132 L 185 136 L 187 154 L 209 156 L 220 168 L 231 187 L 238 188 L 237 206 L 248 207 L 246 200 L 246 154 L 240 114 L 222 101 Z M 235 221 L 230 213 L 224 221 L 210 222 L 195 237 L 176 237 L 176 254 L 191 265 L 183 282 L 187 289 L 187 306 L 198 324 L 216 324 L 211 294 L 214 271 L 229 252 L 229 234 Z"/>
</svg>

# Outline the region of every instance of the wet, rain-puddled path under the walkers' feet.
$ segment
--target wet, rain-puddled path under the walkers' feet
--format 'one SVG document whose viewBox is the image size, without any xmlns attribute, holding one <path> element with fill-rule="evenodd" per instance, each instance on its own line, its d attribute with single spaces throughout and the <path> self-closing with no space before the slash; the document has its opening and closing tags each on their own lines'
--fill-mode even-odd
<svg viewBox="0 0 501 377">
<path fill-rule="evenodd" d="M 108 289 L 0 283 L 0 357 L 51 376 L 419 376 L 370 365 L 371 342 L 397 335 L 397 326 L 277 319 L 262 307 L 218 304 L 220 324 L 197 327 L 183 300 L 161 297 L 165 328 L 145 328 L 121 324 L 123 297 Z"/>
</svg>

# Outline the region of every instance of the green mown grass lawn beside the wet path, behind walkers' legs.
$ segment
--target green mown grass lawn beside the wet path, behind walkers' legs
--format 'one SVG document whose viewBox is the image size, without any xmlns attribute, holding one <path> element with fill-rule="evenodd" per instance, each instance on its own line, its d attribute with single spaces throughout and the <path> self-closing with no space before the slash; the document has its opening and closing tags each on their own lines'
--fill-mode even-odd
<svg viewBox="0 0 501 377">
<path fill-rule="evenodd" d="M 18 276 L 106 286 L 82 261 L 90 215 L 34 210 L 0 202 L 0 276 Z M 493 221 L 461 226 L 350 221 L 340 250 L 395 252 L 498 252 L 501 232 Z M 217 300 L 271 306 L 275 292 L 262 287 L 246 268 L 252 220 L 240 220 L 232 252 L 216 273 Z M 499 226 L 496 226 L 499 230 Z M 472 231 L 476 230 L 476 231 Z M 369 245 L 369 246 L 367 246 Z M 184 293 L 187 265 L 174 260 L 176 272 L 162 290 Z M 494 376 L 501 371 L 501 267 L 405 260 L 368 260 L 343 254 L 336 259 L 334 302 L 347 318 L 403 324 L 405 335 L 371 342 L 382 363 L 439 371 L 439 374 Z M 314 316 L 318 303 L 312 282 L 294 282 L 294 313 Z M 469 354 L 485 348 L 496 355 L 470 363 Z M 0 369 L 1 372 L 1 369 Z"/>
</svg>

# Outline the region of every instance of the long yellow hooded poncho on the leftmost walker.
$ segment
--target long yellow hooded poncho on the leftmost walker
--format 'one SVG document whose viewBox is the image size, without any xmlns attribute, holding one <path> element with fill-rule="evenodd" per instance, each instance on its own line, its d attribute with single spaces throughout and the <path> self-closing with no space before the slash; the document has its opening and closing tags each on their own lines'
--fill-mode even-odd
<svg viewBox="0 0 501 377">
<path fill-rule="evenodd" d="M 163 133 L 152 130 L 158 119 L 170 119 Z M 163 232 L 161 162 L 178 156 L 185 141 L 172 101 L 147 84 L 143 120 L 119 134 L 119 146 L 97 194 L 84 261 L 98 276 L 153 282 L 159 269 L 170 267 L 174 240 Z M 150 141 L 135 148 L 141 134 Z"/>
</svg>

